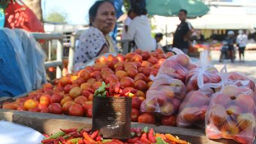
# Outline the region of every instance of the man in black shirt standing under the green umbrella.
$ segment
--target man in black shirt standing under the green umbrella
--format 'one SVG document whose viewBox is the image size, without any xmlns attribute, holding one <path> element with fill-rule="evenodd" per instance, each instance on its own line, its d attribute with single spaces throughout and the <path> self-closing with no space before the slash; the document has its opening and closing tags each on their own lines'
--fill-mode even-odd
<svg viewBox="0 0 256 144">
<path fill-rule="evenodd" d="M 173 36 L 173 47 L 179 48 L 185 54 L 188 54 L 189 51 L 189 36 L 193 33 L 193 27 L 187 19 L 187 11 L 179 11 L 179 20 L 180 24 L 177 27 L 175 34 Z"/>
</svg>

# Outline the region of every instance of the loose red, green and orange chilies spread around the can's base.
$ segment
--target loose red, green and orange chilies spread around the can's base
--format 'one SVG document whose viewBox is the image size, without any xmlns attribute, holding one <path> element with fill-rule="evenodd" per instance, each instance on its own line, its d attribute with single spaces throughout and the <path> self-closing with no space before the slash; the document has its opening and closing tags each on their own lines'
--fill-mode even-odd
<svg viewBox="0 0 256 144">
<path fill-rule="evenodd" d="M 99 131 L 91 129 L 61 129 L 60 132 L 49 136 L 41 141 L 44 144 L 186 144 L 172 134 L 160 134 L 154 129 L 132 128 L 131 138 L 128 140 L 103 139 Z"/>
</svg>

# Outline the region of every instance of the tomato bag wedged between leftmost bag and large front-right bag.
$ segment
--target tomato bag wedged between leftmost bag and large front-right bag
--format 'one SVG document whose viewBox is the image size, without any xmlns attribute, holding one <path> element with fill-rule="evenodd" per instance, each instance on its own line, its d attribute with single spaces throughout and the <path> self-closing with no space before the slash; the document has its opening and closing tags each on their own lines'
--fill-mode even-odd
<svg viewBox="0 0 256 144">
<path fill-rule="evenodd" d="M 180 104 L 176 124 L 178 127 L 200 127 L 204 129 L 205 113 L 213 90 L 197 90 L 189 92 Z"/>
</svg>

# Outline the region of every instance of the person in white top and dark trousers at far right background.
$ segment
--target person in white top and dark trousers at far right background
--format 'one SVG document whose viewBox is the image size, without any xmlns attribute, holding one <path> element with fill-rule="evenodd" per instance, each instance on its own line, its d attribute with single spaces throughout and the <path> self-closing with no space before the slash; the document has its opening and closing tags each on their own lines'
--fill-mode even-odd
<svg viewBox="0 0 256 144">
<path fill-rule="evenodd" d="M 244 49 L 247 44 L 248 36 L 244 34 L 243 30 L 238 31 L 237 37 L 236 37 L 236 44 L 239 47 L 239 61 L 241 62 L 241 55 L 243 55 L 243 61 L 244 61 Z"/>
</svg>

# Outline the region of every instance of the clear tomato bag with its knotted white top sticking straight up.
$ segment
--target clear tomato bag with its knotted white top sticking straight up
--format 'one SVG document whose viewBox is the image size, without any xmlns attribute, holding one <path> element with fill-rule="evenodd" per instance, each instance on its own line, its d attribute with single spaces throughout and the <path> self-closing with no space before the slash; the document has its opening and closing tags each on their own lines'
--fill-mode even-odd
<svg viewBox="0 0 256 144">
<path fill-rule="evenodd" d="M 220 72 L 208 61 L 208 52 L 200 53 L 200 67 L 189 70 L 186 76 L 187 92 L 202 88 L 205 83 L 219 83 Z"/>
</svg>

